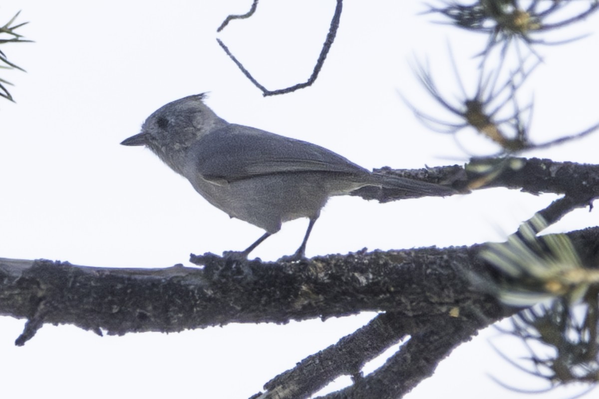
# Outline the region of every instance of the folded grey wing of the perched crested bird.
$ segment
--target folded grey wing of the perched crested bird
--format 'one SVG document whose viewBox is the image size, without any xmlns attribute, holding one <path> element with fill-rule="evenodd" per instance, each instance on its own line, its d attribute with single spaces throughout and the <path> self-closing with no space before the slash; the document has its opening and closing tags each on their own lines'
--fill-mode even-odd
<svg viewBox="0 0 599 399">
<path fill-rule="evenodd" d="M 211 132 L 193 145 L 196 171 L 204 179 L 233 182 L 289 172 L 368 173 L 316 144 L 241 125 Z"/>
</svg>

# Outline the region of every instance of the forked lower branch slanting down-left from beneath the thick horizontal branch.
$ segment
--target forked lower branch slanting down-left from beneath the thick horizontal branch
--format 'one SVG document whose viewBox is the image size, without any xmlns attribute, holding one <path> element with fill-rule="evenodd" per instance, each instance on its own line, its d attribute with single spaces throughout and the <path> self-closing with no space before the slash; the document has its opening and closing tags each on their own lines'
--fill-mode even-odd
<svg viewBox="0 0 599 399">
<path fill-rule="evenodd" d="M 267 392 L 256 399 L 309 397 L 326 383 L 341 375 L 353 377 L 354 384 L 325 398 L 398 398 L 420 381 L 431 376 L 438 362 L 451 350 L 469 341 L 476 331 L 488 325 L 488 318 L 462 310 L 463 315 L 408 317 L 384 313 L 334 345 L 308 356 L 292 370 L 285 371 L 265 384 Z M 498 307 L 485 310 L 497 317 Z M 411 335 L 383 367 L 366 377 L 365 362 Z M 424 355 L 425 354 L 425 355 Z"/>
</svg>

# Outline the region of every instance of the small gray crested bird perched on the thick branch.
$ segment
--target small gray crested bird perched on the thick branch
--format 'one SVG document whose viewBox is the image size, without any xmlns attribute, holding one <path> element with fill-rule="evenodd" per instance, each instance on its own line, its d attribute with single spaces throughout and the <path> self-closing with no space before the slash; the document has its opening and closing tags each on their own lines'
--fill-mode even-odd
<svg viewBox="0 0 599 399">
<path fill-rule="evenodd" d="M 370 171 L 316 144 L 280 136 L 218 117 L 204 104 L 205 93 L 159 108 L 124 146 L 146 146 L 186 177 L 210 204 L 266 232 L 241 252 L 246 258 L 276 233 L 281 223 L 310 219 L 304 240 L 288 259 L 304 257 L 320 209 L 333 195 L 364 186 L 400 189 L 417 195 L 451 195 L 451 188 Z"/>
</svg>

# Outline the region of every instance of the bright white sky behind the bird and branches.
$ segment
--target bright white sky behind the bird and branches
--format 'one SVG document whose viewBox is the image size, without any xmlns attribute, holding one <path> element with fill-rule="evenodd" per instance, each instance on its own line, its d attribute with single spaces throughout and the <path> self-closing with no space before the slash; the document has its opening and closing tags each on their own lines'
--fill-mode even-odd
<svg viewBox="0 0 599 399">
<path fill-rule="evenodd" d="M 47 258 L 102 267 L 187 264 L 190 252 L 244 249 L 262 231 L 229 219 L 148 150 L 119 143 L 139 131 L 156 108 L 210 92 L 208 104 L 229 122 L 328 147 L 366 167 L 463 163 L 453 137 L 426 129 L 401 100 L 446 117 L 409 68 L 428 58 L 433 77 L 459 96 L 447 43 L 467 75 L 482 36 L 432 25 L 417 16 L 422 2 L 347 1 L 337 40 L 316 85 L 263 98 L 216 43 L 221 38 L 270 89 L 304 81 L 320 52 L 335 1 L 262 0 L 252 19 L 216 28 L 246 1 L 5 0 L 0 23 L 18 10 L 30 44 L 2 46 L 27 69 L 0 71 L 17 104 L 0 101 L 0 256 Z M 591 32 L 598 18 L 553 35 Z M 545 141 L 597 122 L 598 36 L 569 46 L 538 47 L 545 63 L 534 88 L 533 140 Z M 472 134 L 460 143 L 480 151 Z M 599 137 L 529 156 L 597 163 Z M 550 203 L 504 189 L 464 197 L 377 204 L 334 198 L 308 241 L 307 256 L 368 249 L 462 245 L 503 240 Z M 287 223 L 252 253 L 274 260 L 294 252 L 307 221 Z M 553 226 L 597 225 L 579 210 Z M 71 326 L 46 325 L 24 347 L 14 339 L 25 321 L 0 318 L 0 375 L 5 397 L 247 398 L 276 374 L 361 327 L 373 315 L 291 323 L 227 325 L 179 334 L 97 337 Z M 457 349 L 437 373 L 406 396 L 519 398 L 486 374 L 525 389 L 539 388 L 488 344 L 493 330 Z M 498 346 L 506 340 L 495 338 Z M 90 389 L 90 386 L 93 387 Z M 85 390 L 85 391 L 84 391 Z M 553 392 L 546 397 L 565 397 Z"/>
</svg>

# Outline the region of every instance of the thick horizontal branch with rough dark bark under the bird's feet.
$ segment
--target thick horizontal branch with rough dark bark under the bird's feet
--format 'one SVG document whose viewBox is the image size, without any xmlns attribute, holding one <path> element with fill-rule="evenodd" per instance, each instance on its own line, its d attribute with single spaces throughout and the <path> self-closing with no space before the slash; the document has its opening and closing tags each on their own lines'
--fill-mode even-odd
<svg viewBox="0 0 599 399">
<path fill-rule="evenodd" d="M 458 265 L 484 268 L 472 251 L 357 253 L 279 265 L 193 256 L 192 261 L 205 264 L 201 269 L 93 268 L 2 259 L 0 314 L 108 334 L 285 323 L 365 310 L 435 315 L 470 301 L 493 301 L 469 291 L 467 280 L 456 273 Z"/>
</svg>

